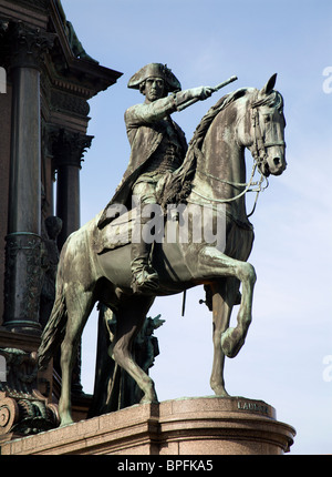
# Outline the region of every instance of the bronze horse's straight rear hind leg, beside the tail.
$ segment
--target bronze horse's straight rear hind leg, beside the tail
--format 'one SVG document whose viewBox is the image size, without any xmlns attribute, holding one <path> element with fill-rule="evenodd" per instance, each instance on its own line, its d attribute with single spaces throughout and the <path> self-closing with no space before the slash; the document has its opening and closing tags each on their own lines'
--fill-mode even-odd
<svg viewBox="0 0 332 477">
<path fill-rule="evenodd" d="M 72 285 L 75 290 L 75 285 Z M 81 293 L 66 293 L 68 324 L 65 336 L 61 345 L 61 373 L 62 387 L 59 402 L 59 414 L 61 426 L 73 423 L 71 414 L 71 383 L 74 359 L 77 354 L 80 338 L 85 323 L 92 312 L 94 301 L 92 293 L 82 291 Z"/>
</svg>

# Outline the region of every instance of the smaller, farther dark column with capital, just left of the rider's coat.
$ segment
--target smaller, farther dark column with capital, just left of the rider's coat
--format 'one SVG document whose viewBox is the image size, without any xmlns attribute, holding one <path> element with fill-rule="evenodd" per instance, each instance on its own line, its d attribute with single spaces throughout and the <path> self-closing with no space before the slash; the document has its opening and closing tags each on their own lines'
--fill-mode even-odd
<svg viewBox="0 0 332 477">
<path fill-rule="evenodd" d="M 53 168 L 56 177 L 56 216 L 62 220 L 58 237 L 61 250 L 68 236 L 80 229 L 80 169 L 92 136 L 60 129 L 53 140 Z"/>
</svg>

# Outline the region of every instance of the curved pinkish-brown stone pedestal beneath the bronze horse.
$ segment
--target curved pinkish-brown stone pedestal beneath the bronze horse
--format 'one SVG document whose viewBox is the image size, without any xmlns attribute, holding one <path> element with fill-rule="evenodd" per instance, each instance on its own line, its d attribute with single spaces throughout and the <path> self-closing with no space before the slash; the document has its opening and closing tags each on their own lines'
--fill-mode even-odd
<svg viewBox="0 0 332 477">
<path fill-rule="evenodd" d="M 135 405 L 6 443 L 1 455 L 281 455 L 294 435 L 262 400 L 211 396 Z"/>
</svg>

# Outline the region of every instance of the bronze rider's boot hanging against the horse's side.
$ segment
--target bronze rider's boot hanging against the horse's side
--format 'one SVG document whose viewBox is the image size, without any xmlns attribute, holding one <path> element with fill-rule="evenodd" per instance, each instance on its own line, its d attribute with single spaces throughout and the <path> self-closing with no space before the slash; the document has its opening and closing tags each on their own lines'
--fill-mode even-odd
<svg viewBox="0 0 332 477">
<path fill-rule="evenodd" d="M 157 272 L 149 263 L 151 243 L 132 243 L 132 288 L 137 294 L 153 293 L 159 286 Z"/>
</svg>

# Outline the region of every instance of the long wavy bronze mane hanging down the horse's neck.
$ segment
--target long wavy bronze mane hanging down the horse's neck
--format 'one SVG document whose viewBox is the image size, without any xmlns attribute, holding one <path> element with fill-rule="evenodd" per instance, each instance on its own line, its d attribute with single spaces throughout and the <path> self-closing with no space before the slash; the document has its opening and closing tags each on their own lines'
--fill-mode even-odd
<svg viewBox="0 0 332 477">
<path fill-rule="evenodd" d="M 174 172 L 168 172 L 157 186 L 157 201 L 164 211 L 167 204 L 179 204 L 186 201 L 191 191 L 191 182 L 196 173 L 197 156 L 201 154 L 203 142 L 212 121 L 220 111 L 224 111 L 229 104 L 242 98 L 247 91 L 248 89 L 241 88 L 232 93 L 226 94 L 203 116 L 188 144 L 188 151 L 181 166 Z"/>
</svg>

